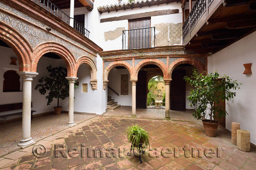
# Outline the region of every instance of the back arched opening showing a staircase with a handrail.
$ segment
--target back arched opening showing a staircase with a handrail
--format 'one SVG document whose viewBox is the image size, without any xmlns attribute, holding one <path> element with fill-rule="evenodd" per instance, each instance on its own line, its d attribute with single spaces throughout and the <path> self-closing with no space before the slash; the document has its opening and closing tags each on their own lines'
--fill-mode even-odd
<svg viewBox="0 0 256 170">
<path fill-rule="evenodd" d="M 131 72 L 124 65 L 113 66 L 108 75 L 107 109 L 132 106 Z"/>
</svg>

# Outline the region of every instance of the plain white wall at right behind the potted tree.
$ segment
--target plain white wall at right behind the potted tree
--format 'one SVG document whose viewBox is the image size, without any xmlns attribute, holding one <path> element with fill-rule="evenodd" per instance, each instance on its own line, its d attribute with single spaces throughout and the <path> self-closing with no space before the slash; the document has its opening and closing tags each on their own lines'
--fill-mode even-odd
<svg viewBox="0 0 256 170">
<path fill-rule="evenodd" d="M 241 85 L 236 90 L 237 96 L 226 103 L 229 115 L 226 117 L 226 128 L 231 131 L 231 123 L 239 122 L 241 129 L 250 131 L 251 142 L 256 144 L 256 32 L 240 39 L 236 43 L 224 48 L 208 57 L 208 71 L 218 71 L 227 74 Z M 243 74 L 245 63 L 252 63 L 252 74 Z"/>
</svg>

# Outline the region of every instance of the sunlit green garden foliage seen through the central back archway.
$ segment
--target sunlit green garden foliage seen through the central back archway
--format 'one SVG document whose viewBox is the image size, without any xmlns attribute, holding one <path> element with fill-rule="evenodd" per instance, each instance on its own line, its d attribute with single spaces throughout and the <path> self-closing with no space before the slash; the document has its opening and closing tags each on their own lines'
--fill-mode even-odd
<svg viewBox="0 0 256 170">
<path fill-rule="evenodd" d="M 150 106 L 152 103 L 155 102 L 155 97 L 157 97 L 153 91 L 157 90 L 157 82 L 158 81 L 163 81 L 162 76 L 154 76 L 148 81 L 148 94 L 147 94 L 147 104 Z"/>
</svg>

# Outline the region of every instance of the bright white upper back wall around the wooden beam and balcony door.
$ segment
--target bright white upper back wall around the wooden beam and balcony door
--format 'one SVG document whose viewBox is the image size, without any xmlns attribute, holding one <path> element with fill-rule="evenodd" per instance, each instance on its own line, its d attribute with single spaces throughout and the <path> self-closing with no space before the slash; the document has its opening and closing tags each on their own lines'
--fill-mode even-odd
<svg viewBox="0 0 256 170">
<path fill-rule="evenodd" d="M 101 18 L 109 17 L 119 17 L 122 15 L 131 15 L 136 13 L 144 13 L 148 11 L 156 10 L 170 10 L 170 9 L 179 9 L 180 13 L 171 14 L 171 15 L 161 15 L 156 17 L 151 17 L 151 26 L 161 23 L 173 23 L 177 24 L 182 22 L 182 10 L 180 3 L 169 3 L 169 4 L 159 4 L 159 6 L 144 6 L 142 8 L 134 8 L 133 10 L 119 10 L 112 11 L 110 13 L 100 14 L 97 8 L 99 6 L 110 5 L 118 3 L 116 0 L 106 1 L 106 0 L 97 0 L 94 2 L 94 7 L 92 11 L 88 11 L 88 30 L 91 31 L 90 39 L 93 42 L 97 43 L 104 51 L 106 50 L 122 50 L 122 34 L 114 40 L 105 41 L 104 32 L 115 31 L 118 27 L 125 27 L 128 29 L 128 20 L 119 20 L 113 22 L 104 22 L 100 23 Z M 127 1 L 125 1 L 127 3 Z M 158 32 L 156 31 L 156 34 Z M 166 33 L 167 34 L 167 33 Z"/>
</svg>

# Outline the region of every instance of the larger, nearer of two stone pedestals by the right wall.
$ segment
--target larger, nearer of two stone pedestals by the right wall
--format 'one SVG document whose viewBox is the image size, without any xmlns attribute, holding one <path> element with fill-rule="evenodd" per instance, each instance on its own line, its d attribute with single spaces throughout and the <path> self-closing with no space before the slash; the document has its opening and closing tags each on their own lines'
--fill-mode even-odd
<svg viewBox="0 0 256 170">
<path fill-rule="evenodd" d="M 250 152 L 250 132 L 237 130 L 237 148 L 243 152 Z"/>
</svg>

